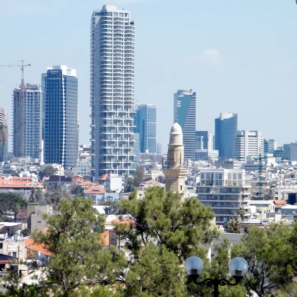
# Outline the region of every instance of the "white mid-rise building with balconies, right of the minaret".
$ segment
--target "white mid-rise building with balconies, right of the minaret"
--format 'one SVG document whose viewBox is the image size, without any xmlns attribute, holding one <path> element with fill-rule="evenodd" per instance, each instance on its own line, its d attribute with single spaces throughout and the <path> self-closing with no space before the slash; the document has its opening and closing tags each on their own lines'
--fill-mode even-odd
<svg viewBox="0 0 297 297">
<path fill-rule="evenodd" d="M 205 206 L 211 206 L 216 224 L 223 225 L 231 217 L 240 216 L 238 209 L 244 207 L 245 218 L 251 217 L 250 185 L 245 181 L 244 169 L 201 169 L 198 199 Z"/>
</svg>

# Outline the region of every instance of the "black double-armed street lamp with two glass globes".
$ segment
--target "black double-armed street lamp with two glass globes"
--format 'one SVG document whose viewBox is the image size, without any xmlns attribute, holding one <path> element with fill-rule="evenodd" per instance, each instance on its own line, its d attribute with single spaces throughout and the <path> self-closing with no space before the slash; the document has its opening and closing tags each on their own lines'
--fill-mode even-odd
<svg viewBox="0 0 297 297">
<path fill-rule="evenodd" d="M 197 279 L 199 275 L 202 273 L 203 268 L 204 268 L 203 261 L 197 256 L 189 257 L 185 262 L 186 272 L 190 275 L 193 282 L 196 285 L 204 285 L 204 284 L 207 286 L 213 285 L 214 290 L 212 292 L 212 295 L 214 297 L 218 297 L 220 294 L 219 286 L 226 286 L 226 285 L 236 286 L 239 284 L 241 279 L 243 279 L 243 277 L 247 274 L 248 264 L 247 264 L 247 261 L 242 257 L 236 257 L 230 261 L 229 271 L 232 274 L 233 278 L 235 279 L 235 283 L 230 283 L 226 279 L 219 279 L 217 277 L 215 277 L 214 279 L 207 278 L 202 282 L 198 282 Z"/>
</svg>

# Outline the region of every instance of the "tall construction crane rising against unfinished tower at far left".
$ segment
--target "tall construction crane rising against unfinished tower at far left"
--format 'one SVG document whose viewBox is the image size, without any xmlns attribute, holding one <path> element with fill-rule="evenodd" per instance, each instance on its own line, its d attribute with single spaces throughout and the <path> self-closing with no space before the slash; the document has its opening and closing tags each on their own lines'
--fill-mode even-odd
<svg viewBox="0 0 297 297">
<path fill-rule="evenodd" d="M 25 101 L 25 80 L 24 80 L 24 67 L 27 66 L 32 66 L 32 64 L 24 64 L 24 60 L 21 60 L 22 64 L 21 65 L 0 65 L 0 67 L 20 67 L 21 72 L 22 72 L 22 77 L 21 77 L 21 98 L 20 98 L 20 103 L 21 103 L 21 131 L 20 131 L 20 156 L 24 156 L 24 140 L 25 140 L 25 107 L 24 107 L 24 101 Z M 17 116 L 15 117 L 15 121 L 17 119 Z M 14 123 L 16 127 L 16 123 Z"/>
</svg>

